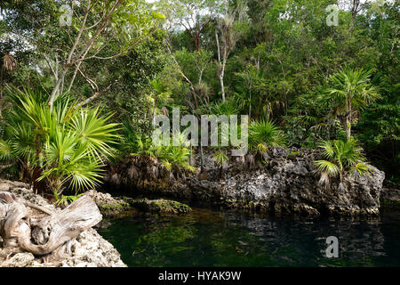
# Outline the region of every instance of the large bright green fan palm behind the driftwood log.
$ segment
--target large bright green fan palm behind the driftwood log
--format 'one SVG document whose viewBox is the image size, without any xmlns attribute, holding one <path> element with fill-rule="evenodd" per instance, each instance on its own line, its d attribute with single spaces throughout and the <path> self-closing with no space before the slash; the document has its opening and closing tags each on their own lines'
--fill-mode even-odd
<svg viewBox="0 0 400 285">
<path fill-rule="evenodd" d="M 100 109 L 79 109 L 67 96 L 54 102 L 31 90 L 10 90 L 12 110 L 5 119 L 0 159 L 29 166 L 35 181 L 44 181 L 56 199 L 71 186 L 75 191 L 94 187 L 100 167 L 113 154 L 117 124 Z M 37 172 L 37 175 L 33 175 Z"/>
</svg>

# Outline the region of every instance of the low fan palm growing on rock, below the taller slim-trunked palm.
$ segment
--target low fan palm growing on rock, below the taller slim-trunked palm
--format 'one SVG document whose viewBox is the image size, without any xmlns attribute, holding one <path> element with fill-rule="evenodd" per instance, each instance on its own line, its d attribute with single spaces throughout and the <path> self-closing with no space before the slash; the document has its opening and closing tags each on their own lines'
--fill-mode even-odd
<svg viewBox="0 0 400 285">
<path fill-rule="evenodd" d="M 324 160 L 316 160 L 315 165 L 321 172 L 320 183 L 328 184 L 330 177 L 343 177 L 350 175 L 367 175 L 370 167 L 365 163 L 363 149 L 358 142 L 348 141 L 323 141 L 319 147 L 323 150 Z"/>
</svg>

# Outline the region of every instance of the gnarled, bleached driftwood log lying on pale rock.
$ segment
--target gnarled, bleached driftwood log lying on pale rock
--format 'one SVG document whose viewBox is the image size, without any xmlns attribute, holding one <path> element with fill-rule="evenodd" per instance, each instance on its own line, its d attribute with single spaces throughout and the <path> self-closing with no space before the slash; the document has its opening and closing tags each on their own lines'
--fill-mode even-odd
<svg viewBox="0 0 400 285">
<path fill-rule="evenodd" d="M 48 216 L 32 216 L 35 208 Z M 0 236 L 3 252 L 10 256 L 31 252 L 35 256 L 71 254 L 71 241 L 84 230 L 101 221 L 99 208 L 87 195 L 76 199 L 58 212 L 17 198 L 11 192 L 0 192 Z"/>
</svg>

